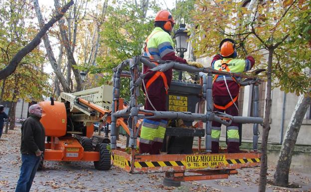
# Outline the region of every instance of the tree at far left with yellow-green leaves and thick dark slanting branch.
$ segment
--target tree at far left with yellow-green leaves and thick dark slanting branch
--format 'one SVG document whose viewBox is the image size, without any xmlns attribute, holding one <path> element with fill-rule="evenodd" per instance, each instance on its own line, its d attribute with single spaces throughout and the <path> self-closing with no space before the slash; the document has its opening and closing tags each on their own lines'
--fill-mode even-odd
<svg viewBox="0 0 311 192">
<path fill-rule="evenodd" d="M 26 20 L 33 17 L 33 11 L 29 11 L 31 9 L 27 0 L 6 0 L 0 5 L 0 72 L 4 78 L 0 99 L 10 102 L 10 129 L 14 128 L 15 106 L 19 98 L 41 100 L 42 94 L 47 95 L 49 92 L 48 75 L 42 72 L 41 67 L 43 53 L 35 46 L 40 41 L 38 35 L 47 30 L 48 25 L 38 33 L 31 23 L 27 23 Z M 51 25 L 52 22 L 48 24 Z M 31 42 L 27 45 L 29 41 Z M 24 48 L 17 51 L 20 47 Z M 8 126 L 5 133 L 7 130 Z"/>
</svg>

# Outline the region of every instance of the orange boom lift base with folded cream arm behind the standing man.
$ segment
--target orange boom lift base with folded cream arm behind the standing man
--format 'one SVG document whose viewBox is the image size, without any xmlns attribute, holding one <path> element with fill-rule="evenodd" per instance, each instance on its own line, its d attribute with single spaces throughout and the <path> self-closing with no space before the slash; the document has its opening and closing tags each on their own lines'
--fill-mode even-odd
<svg viewBox="0 0 311 192">
<path fill-rule="evenodd" d="M 108 138 L 92 137 L 94 122 L 110 122 L 113 87 L 61 93 L 59 100 L 39 102 L 45 127 L 44 160 L 93 161 L 98 170 L 109 170 L 111 155 Z M 92 139 L 90 139 L 92 138 Z M 39 168 L 42 168 L 43 161 Z"/>
</svg>

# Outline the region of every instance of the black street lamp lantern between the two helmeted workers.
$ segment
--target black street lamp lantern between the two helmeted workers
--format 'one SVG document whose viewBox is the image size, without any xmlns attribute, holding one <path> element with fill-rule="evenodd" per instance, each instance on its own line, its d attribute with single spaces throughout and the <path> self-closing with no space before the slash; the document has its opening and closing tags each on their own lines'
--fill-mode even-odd
<svg viewBox="0 0 311 192">
<path fill-rule="evenodd" d="M 176 51 L 179 53 L 181 58 L 184 57 L 184 52 L 188 48 L 189 35 L 185 24 L 179 24 L 179 28 L 175 31 L 174 38 L 176 40 Z M 182 79 L 182 71 L 179 71 L 178 80 Z"/>
</svg>

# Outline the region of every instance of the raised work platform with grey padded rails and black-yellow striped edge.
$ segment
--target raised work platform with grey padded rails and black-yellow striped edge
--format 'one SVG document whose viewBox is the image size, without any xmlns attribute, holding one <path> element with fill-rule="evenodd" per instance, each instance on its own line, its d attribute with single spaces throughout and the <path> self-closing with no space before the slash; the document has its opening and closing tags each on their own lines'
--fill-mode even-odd
<svg viewBox="0 0 311 192">
<path fill-rule="evenodd" d="M 155 65 L 155 63 L 158 65 Z M 152 71 L 166 71 L 169 68 L 199 73 L 200 84 L 191 85 L 182 82 L 172 82 L 168 93 L 167 105 L 170 111 L 151 111 L 142 109 L 138 103 L 138 96 L 142 81 L 146 74 L 142 74 L 140 66 L 147 65 Z M 130 71 L 124 71 L 129 67 Z M 254 84 L 255 97 L 253 105 L 254 117 L 230 116 L 217 111 L 212 111 L 212 75 L 226 75 L 246 78 L 240 82 L 242 86 Z M 123 101 L 120 99 L 120 78 L 130 77 L 131 98 L 127 107 L 121 107 Z M 123 61 L 114 69 L 113 77 L 113 103 L 111 112 L 111 157 L 112 164 L 132 173 L 158 173 L 165 172 L 164 185 L 180 186 L 180 182 L 194 180 L 212 180 L 228 178 L 231 174 L 237 174 L 237 169 L 258 167 L 260 156 L 258 152 L 258 124 L 263 119 L 258 117 L 260 79 L 243 74 L 228 73 L 214 70 L 212 68 L 196 68 L 173 61 L 153 60 L 148 57 L 137 56 Z M 179 84 L 178 84 L 179 83 Z M 181 88 L 172 88 L 180 86 Z M 189 89 L 188 91 L 184 91 Z M 197 99 L 197 101 L 194 101 Z M 197 105 L 197 107 L 194 107 Z M 206 113 L 204 113 L 206 107 Z M 180 127 L 166 128 L 166 137 L 163 150 L 167 154 L 145 155 L 138 154 L 140 121 L 142 119 L 182 119 L 185 123 L 196 121 L 195 129 L 184 129 Z M 128 123 L 124 122 L 124 119 Z M 241 153 L 229 154 L 223 151 L 220 154 L 211 154 L 211 122 L 217 121 L 225 126 L 232 122 L 253 123 L 253 150 Z M 131 153 L 124 148 L 117 148 L 117 126 L 122 125 L 129 135 L 129 147 Z M 192 149 L 193 137 L 198 137 L 198 148 Z M 201 137 L 205 137 L 205 148 L 201 149 Z M 168 138 L 168 139 L 167 139 Z M 191 141 L 192 138 L 192 141 Z M 172 139 L 173 142 L 169 142 Z M 190 139 L 190 142 L 189 142 Z M 178 141 L 179 140 L 179 141 Z M 177 146 L 173 146 L 176 145 Z M 179 145 L 179 146 L 178 146 Z"/>
</svg>

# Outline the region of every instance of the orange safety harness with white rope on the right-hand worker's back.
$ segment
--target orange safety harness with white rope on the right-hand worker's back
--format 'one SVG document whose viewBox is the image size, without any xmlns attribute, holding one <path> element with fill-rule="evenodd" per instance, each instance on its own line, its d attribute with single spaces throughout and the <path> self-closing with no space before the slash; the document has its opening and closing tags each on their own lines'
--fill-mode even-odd
<svg viewBox="0 0 311 192">
<path fill-rule="evenodd" d="M 231 60 L 228 60 L 227 63 L 229 63 L 230 61 L 231 61 Z M 226 70 L 227 72 L 231 73 L 231 71 L 230 71 L 230 69 L 229 69 L 227 63 L 224 63 L 224 61 L 221 60 L 221 67 L 220 67 L 218 70 L 219 70 L 219 71 Z M 218 74 L 215 75 L 215 77 L 214 77 L 214 79 L 213 79 L 213 83 L 216 81 L 216 79 L 218 78 L 218 76 L 219 76 Z M 226 81 L 226 76 L 223 76 L 223 77 L 224 77 L 224 81 L 225 81 L 225 84 L 226 84 L 226 87 L 227 87 L 227 91 L 228 91 L 228 93 L 229 93 L 229 95 L 230 95 L 231 101 L 230 101 L 229 103 L 227 103 L 225 106 L 216 105 L 215 103 L 214 103 L 214 106 L 215 106 L 217 109 L 226 110 L 226 109 L 228 109 L 231 105 L 235 105 L 236 109 L 239 111 L 238 106 L 236 106 L 236 104 L 235 104 L 236 100 L 239 98 L 239 94 L 238 94 L 236 97 L 232 98 L 231 93 L 230 93 L 230 90 L 229 90 L 229 87 L 228 87 L 228 84 L 227 84 L 227 81 Z M 232 78 L 232 79 L 233 79 L 233 80 L 239 85 L 239 87 L 240 87 L 240 84 L 237 82 L 237 80 L 236 80 L 235 78 Z"/>
</svg>

